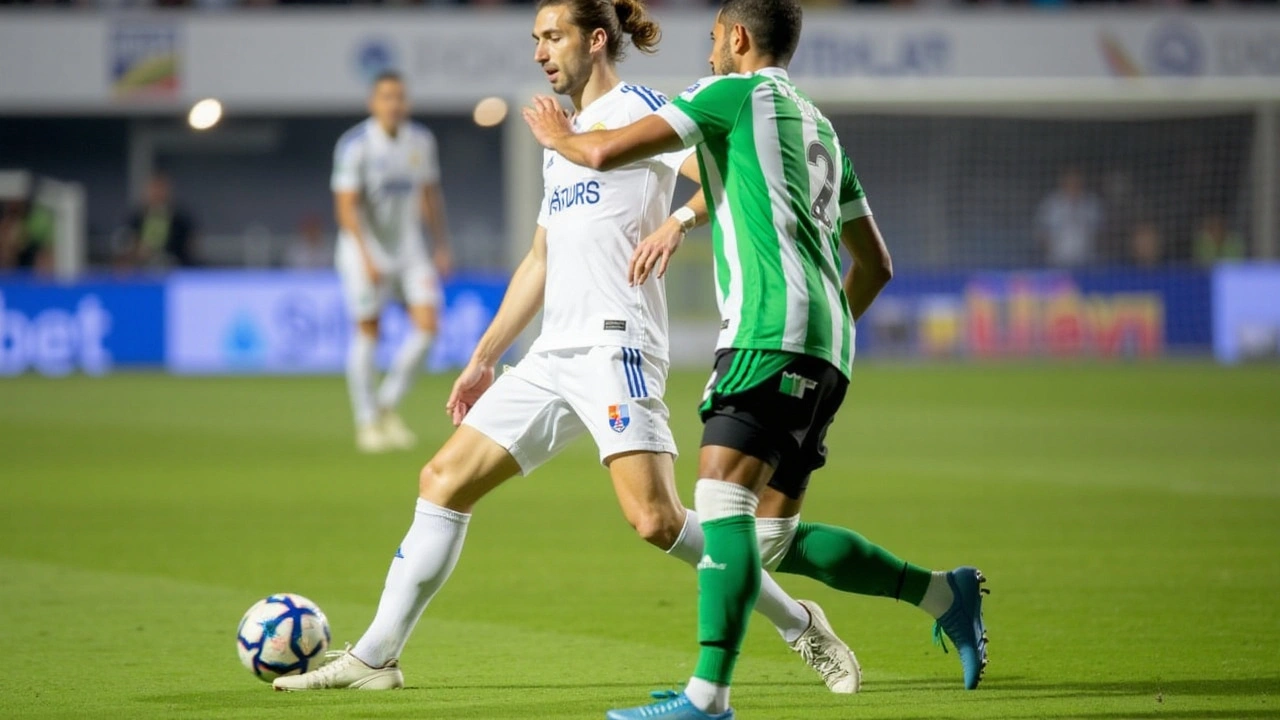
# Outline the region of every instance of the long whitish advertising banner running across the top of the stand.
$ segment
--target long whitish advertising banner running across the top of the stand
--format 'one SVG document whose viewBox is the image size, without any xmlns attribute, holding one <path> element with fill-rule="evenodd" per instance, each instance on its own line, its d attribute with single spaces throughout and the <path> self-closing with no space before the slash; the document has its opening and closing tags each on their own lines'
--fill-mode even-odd
<svg viewBox="0 0 1280 720">
<path fill-rule="evenodd" d="M 361 106 L 397 68 L 420 109 L 470 109 L 541 82 L 527 10 L 406 9 L 99 14 L 5 12 L 0 109 L 142 113 L 218 97 L 232 111 Z M 658 12 L 657 55 L 627 77 L 708 72 L 709 13 Z M 810 12 L 805 78 L 1270 78 L 1280 13 Z M 662 88 L 677 91 L 680 88 Z"/>
</svg>

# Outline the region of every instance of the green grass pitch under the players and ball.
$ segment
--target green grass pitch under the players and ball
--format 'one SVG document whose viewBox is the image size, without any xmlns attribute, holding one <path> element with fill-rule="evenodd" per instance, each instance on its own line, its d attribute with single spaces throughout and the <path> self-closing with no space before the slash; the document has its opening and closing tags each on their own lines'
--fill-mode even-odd
<svg viewBox="0 0 1280 720">
<path fill-rule="evenodd" d="M 236 659 L 271 592 L 372 616 L 449 430 L 352 448 L 340 378 L 0 382 L 0 717 L 558 717 L 678 685 L 694 573 L 634 537 L 582 442 L 479 509 L 396 693 L 273 693 Z M 703 374 L 668 401 L 691 501 Z M 780 577 L 864 667 L 827 693 L 754 619 L 744 719 L 1280 717 L 1280 372 L 1203 364 L 859 368 L 806 518 L 991 579 L 977 692 L 913 607 Z"/>
</svg>

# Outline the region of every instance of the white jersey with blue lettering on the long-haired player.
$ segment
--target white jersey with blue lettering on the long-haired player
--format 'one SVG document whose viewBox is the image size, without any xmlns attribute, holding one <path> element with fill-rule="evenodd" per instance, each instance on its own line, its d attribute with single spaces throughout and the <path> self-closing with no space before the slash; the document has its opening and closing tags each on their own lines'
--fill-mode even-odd
<svg viewBox="0 0 1280 720">
<path fill-rule="evenodd" d="M 648 87 L 618 83 L 584 108 L 573 128 L 620 128 L 666 102 Z M 599 172 L 543 151 L 538 224 L 547 228 L 547 291 L 531 352 L 614 345 L 667 359 L 667 293 L 654 279 L 630 287 L 627 264 L 671 214 L 680 165 L 691 152 Z"/>
</svg>

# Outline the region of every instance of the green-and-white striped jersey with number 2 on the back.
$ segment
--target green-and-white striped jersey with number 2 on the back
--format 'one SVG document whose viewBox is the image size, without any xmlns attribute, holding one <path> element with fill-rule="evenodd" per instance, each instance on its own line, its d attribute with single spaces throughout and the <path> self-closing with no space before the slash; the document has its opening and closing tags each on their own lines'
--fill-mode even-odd
<svg viewBox="0 0 1280 720">
<path fill-rule="evenodd" d="M 658 114 L 699 149 L 717 347 L 812 355 L 849 377 L 840 228 L 870 209 L 831 122 L 781 68 L 703 78 Z"/>
</svg>

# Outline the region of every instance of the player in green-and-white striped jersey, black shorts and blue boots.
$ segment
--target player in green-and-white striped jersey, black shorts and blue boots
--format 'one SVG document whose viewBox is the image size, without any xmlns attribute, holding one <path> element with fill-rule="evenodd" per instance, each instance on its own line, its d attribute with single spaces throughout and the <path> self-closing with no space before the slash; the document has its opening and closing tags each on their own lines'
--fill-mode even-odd
<svg viewBox="0 0 1280 720">
<path fill-rule="evenodd" d="M 919 606 L 956 644 L 966 688 L 986 665 L 980 573 L 932 573 L 851 530 L 799 521 L 849 386 L 854 320 L 892 275 L 849 155 L 787 76 L 800 24 L 799 0 L 724 0 L 712 28 L 714 76 L 623 128 L 573 133 L 549 97 L 525 110 L 540 143 L 591 168 L 698 146 L 703 191 L 640 243 L 632 282 L 655 265 L 660 275 L 684 232 L 712 224 L 722 325 L 700 407 L 701 650 L 685 692 L 609 719 L 733 717 L 728 685 L 762 562 Z M 841 245 L 854 258 L 844 278 Z"/>
</svg>

